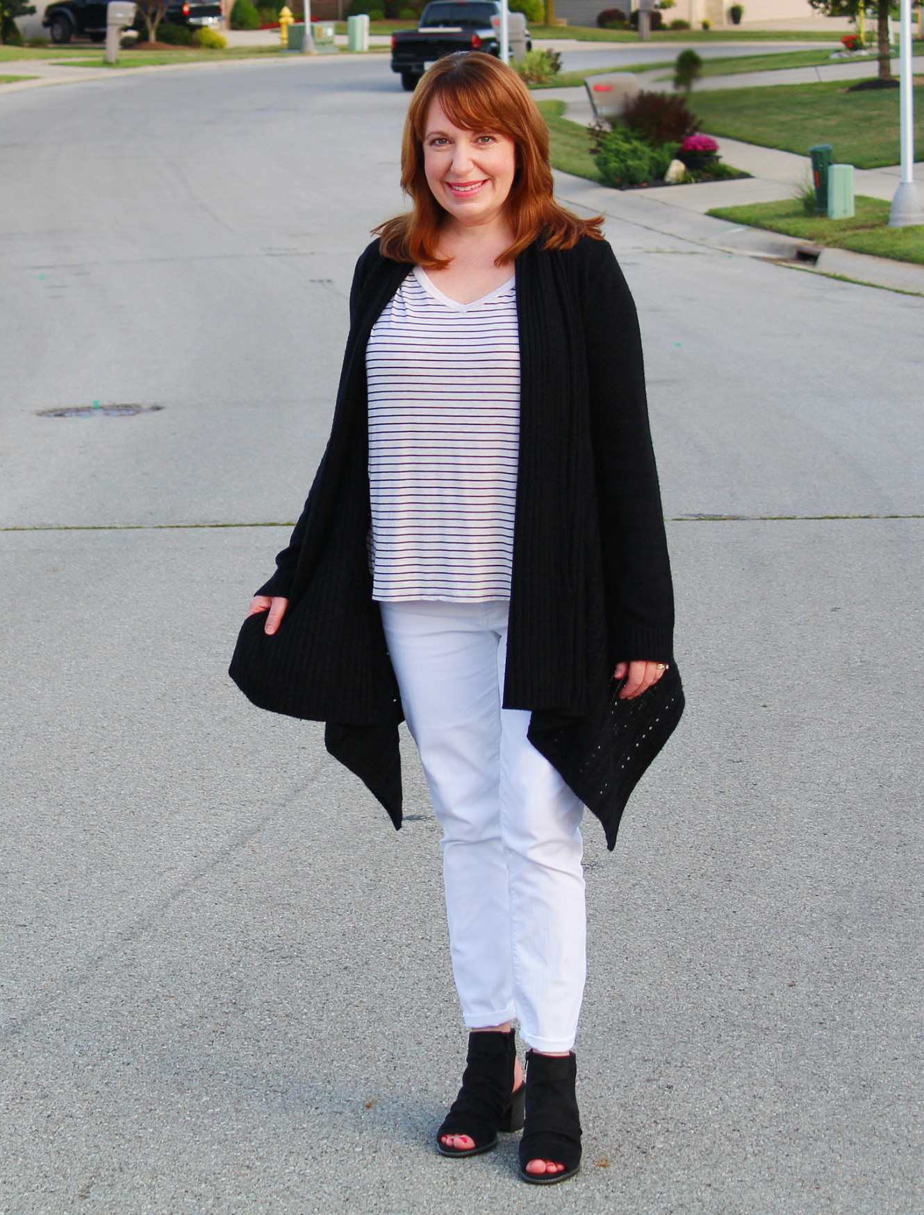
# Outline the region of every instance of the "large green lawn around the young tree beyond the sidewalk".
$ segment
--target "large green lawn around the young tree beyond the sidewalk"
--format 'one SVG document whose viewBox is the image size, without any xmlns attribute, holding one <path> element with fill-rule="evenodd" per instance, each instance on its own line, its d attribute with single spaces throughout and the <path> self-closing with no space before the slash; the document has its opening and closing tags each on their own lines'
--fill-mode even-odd
<svg viewBox="0 0 924 1215">
<path fill-rule="evenodd" d="M 871 75 L 874 73 L 871 72 Z M 855 84 L 856 81 L 851 81 Z M 924 86 L 915 94 L 918 157 L 924 149 Z M 710 135 L 807 156 L 833 143 L 834 159 L 858 169 L 898 163 L 898 90 L 849 92 L 838 84 L 764 85 L 694 92 L 689 106 Z"/>
</svg>

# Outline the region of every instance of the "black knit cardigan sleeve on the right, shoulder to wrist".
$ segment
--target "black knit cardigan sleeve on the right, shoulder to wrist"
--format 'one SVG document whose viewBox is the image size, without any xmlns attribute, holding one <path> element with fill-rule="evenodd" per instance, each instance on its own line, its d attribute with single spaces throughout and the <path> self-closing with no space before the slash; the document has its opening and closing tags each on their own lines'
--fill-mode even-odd
<svg viewBox="0 0 924 1215">
<path fill-rule="evenodd" d="M 613 250 L 586 242 L 584 330 L 609 657 L 666 662 L 674 590 L 632 295 Z"/>
</svg>

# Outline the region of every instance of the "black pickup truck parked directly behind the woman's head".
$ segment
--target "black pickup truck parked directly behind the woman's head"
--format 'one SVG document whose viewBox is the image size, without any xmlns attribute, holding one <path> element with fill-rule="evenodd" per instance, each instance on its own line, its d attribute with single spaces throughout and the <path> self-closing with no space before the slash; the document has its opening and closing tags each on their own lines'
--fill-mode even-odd
<svg viewBox="0 0 924 1215">
<path fill-rule="evenodd" d="M 401 84 L 413 92 L 427 64 L 444 55 L 485 51 L 500 57 L 500 16 L 495 0 L 433 0 L 423 10 L 418 29 L 391 35 L 391 70 L 400 72 Z M 529 30 L 526 50 L 533 50 Z"/>
</svg>

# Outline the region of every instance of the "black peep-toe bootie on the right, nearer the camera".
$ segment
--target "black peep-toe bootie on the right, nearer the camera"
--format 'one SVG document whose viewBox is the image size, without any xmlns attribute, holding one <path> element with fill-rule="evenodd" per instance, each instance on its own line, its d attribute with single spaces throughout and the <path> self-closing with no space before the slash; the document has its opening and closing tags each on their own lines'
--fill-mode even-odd
<svg viewBox="0 0 924 1215">
<path fill-rule="evenodd" d="M 581 1166 L 576 1079 L 574 1051 L 562 1058 L 526 1051 L 526 1125 L 519 1145 L 519 1174 L 534 1186 L 568 1181 Z M 526 1172 L 530 1160 L 554 1160 L 564 1170 Z"/>
</svg>

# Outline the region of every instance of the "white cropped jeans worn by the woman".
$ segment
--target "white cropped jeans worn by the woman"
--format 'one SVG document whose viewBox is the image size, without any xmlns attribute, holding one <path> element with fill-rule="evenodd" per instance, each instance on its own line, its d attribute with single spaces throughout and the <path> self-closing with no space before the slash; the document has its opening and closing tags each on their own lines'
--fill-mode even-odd
<svg viewBox="0 0 924 1215">
<path fill-rule="evenodd" d="M 444 831 L 452 972 L 469 1029 L 514 1017 L 574 1046 L 586 974 L 584 807 L 501 708 L 507 600 L 383 603 L 407 725 Z"/>
</svg>

